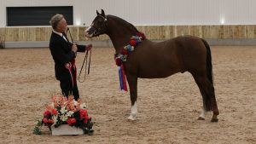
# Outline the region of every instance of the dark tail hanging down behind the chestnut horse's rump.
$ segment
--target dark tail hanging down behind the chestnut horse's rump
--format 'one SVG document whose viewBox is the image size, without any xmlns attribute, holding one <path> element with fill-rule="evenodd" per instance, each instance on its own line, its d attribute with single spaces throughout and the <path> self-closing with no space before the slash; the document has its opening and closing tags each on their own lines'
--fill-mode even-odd
<svg viewBox="0 0 256 144">
<path fill-rule="evenodd" d="M 212 72 L 212 54 L 211 54 L 211 49 L 209 44 L 207 43 L 206 40 L 201 39 L 202 42 L 205 44 L 206 48 L 207 48 L 207 78 L 208 80 L 211 82 L 211 84 L 213 85 L 213 72 Z"/>
</svg>

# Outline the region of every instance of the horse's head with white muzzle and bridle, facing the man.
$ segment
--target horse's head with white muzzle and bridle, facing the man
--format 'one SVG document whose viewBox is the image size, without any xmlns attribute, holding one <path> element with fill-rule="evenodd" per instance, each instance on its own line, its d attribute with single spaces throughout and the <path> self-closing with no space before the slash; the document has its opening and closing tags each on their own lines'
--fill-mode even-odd
<svg viewBox="0 0 256 144">
<path fill-rule="evenodd" d="M 96 18 L 92 21 L 90 27 L 88 27 L 85 31 L 85 37 L 96 37 L 102 34 L 105 34 L 107 31 L 107 16 L 105 15 L 104 10 L 102 10 L 102 14 L 100 14 L 96 10 Z"/>
</svg>

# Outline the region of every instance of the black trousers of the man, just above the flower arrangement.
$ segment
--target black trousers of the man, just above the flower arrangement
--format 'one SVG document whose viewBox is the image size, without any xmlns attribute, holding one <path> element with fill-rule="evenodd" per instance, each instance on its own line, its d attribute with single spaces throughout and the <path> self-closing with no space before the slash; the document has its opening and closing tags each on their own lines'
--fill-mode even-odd
<svg viewBox="0 0 256 144">
<path fill-rule="evenodd" d="M 77 82 L 74 82 L 74 86 L 72 85 L 72 80 L 71 78 L 65 78 L 65 79 L 60 79 L 61 82 L 61 91 L 62 95 L 65 95 L 68 97 L 69 95 L 73 95 L 74 99 L 78 101 L 79 99 L 79 89 Z"/>
</svg>

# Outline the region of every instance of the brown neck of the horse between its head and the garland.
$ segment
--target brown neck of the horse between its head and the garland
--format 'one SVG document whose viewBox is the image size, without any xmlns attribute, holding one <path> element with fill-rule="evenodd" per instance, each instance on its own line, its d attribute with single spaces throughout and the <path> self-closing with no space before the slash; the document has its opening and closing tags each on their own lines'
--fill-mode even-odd
<svg viewBox="0 0 256 144">
<path fill-rule="evenodd" d="M 108 25 L 108 36 L 110 37 L 116 53 L 119 53 L 130 40 L 131 36 L 135 33 L 129 26 L 120 25 L 119 22 L 111 20 Z"/>
</svg>

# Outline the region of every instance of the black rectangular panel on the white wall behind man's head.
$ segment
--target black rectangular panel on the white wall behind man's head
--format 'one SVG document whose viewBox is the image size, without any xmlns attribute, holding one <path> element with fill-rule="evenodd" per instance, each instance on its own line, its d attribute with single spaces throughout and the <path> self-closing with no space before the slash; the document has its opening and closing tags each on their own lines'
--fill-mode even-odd
<svg viewBox="0 0 256 144">
<path fill-rule="evenodd" d="M 67 25 L 73 25 L 73 6 L 7 7 L 7 26 L 49 26 L 54 14 L 63 14 Z"/>
</svg>

